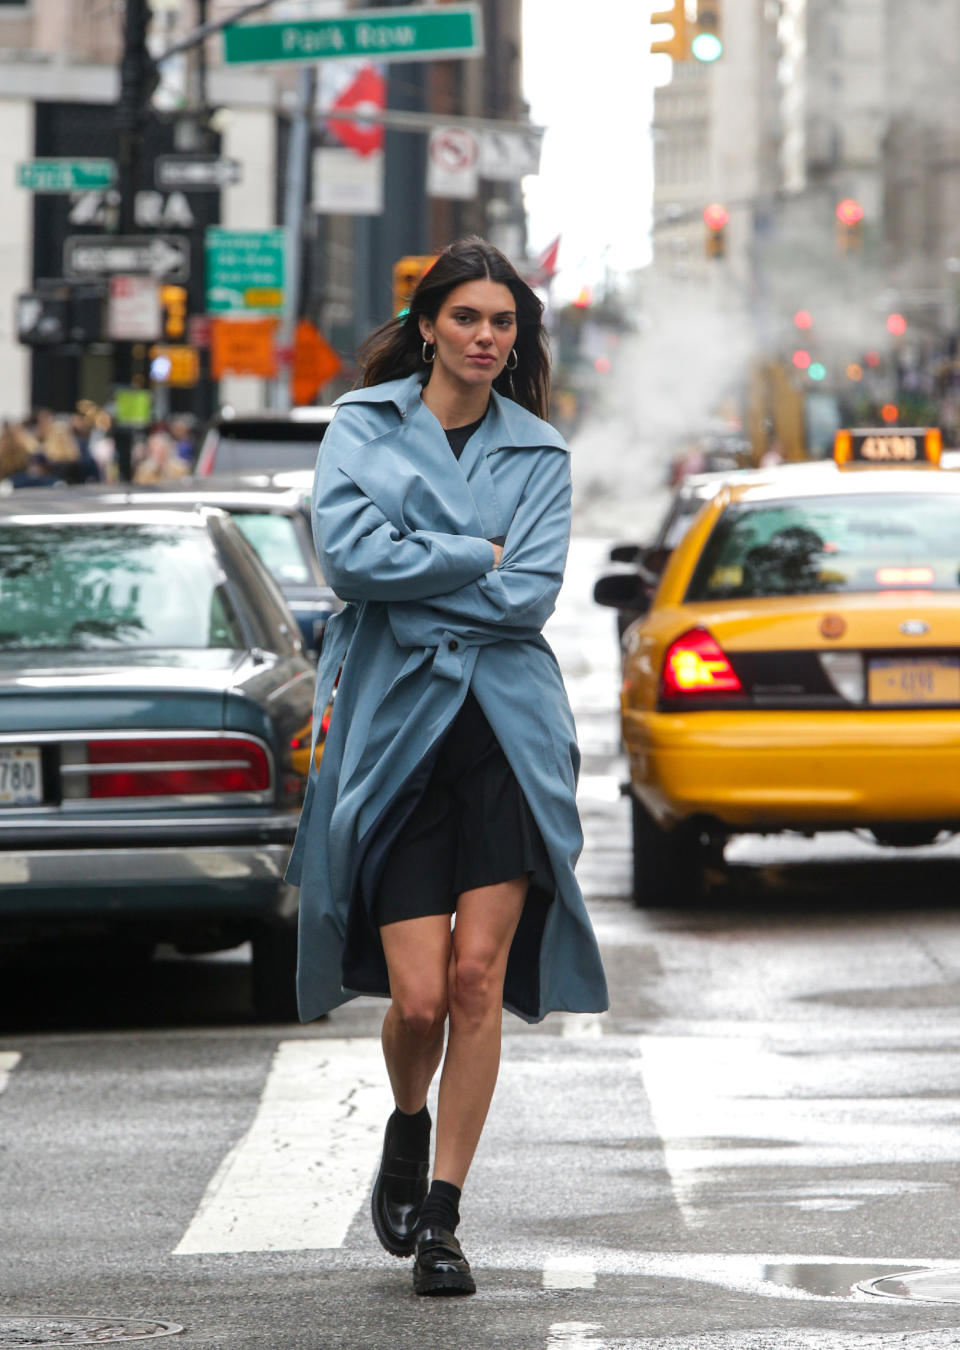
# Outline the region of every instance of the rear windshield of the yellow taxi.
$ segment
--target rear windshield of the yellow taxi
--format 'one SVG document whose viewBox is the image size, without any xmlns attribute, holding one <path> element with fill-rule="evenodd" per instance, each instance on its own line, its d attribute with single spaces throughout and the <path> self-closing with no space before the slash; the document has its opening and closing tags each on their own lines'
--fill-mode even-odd
<svg viewBox="0 0 960 1350">
<path fill-rule="evenodd" d="M 960 589 L 953 494 L 735 502 L 717 521 L 687 601 Z"/>
</svg>

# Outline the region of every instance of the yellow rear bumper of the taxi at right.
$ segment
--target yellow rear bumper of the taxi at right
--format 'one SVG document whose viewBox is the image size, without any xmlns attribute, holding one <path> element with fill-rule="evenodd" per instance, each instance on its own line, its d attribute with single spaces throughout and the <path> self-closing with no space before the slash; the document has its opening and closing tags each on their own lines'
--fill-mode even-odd
<svg viewBox="0 0 960 1350">
<path fill-rule="evenodd" d="M 960 828 L 956 711 L 624 710 L 631 786 L 662 825 Z"/>
</svg>

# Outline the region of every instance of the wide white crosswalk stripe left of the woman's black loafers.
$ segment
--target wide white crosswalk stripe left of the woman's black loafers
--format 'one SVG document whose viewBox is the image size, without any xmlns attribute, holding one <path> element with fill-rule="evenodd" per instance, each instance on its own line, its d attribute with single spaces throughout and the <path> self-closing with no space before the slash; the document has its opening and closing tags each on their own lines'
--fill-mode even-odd
<svg viewBox="0 0 960 1350">
<path fill-rule="evenodd" d="M 176 1247 L 339 1247 L 365 1204 L 393 1107 L 379 1041 L 284 1041 L 257 1116 Z"/>
</svg>

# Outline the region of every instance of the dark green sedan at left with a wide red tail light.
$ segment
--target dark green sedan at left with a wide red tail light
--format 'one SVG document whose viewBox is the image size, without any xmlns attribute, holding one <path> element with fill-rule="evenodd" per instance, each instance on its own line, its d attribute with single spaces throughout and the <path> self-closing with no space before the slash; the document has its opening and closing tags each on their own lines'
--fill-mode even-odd
<svg viewBox="0 0 960 1350">
<path fill-rule="evenodd" d="M 286 602 L 223 512 L 26 497 L 0 502 L 0 949 L 251 941 L 258 1014 L 293 1017 L 315 667 Z"/>
</svg>

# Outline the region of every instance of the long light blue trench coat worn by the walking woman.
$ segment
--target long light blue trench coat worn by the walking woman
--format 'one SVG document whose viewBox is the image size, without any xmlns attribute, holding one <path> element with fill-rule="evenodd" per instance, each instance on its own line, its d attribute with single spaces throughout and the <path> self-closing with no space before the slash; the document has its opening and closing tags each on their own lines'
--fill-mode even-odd
<svg viewBox="0 0 960 1350">
<path fill-rule="evenodd" d="M 317 460 L 313 533 L 347 603 L 327 626 L 315 726 L 342 676 L 288 868 L 300 886 L 300 1015 L 389 994 L 370 917 L 378 871 L 469 688 L 552 868 L 533 878 L 504 1004 L 528 1022 L 598 1013 L 606 981 L 574 876 L 579 751 L 541 636 L 567 555 L 570 455 L 552 427 L 493 393 L 458 462 L 420 387 L 412 375 L 344 394 Z M 501 535 L 494 568 L 489 539 Z"/>
</svg>

